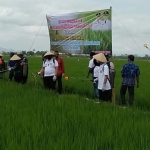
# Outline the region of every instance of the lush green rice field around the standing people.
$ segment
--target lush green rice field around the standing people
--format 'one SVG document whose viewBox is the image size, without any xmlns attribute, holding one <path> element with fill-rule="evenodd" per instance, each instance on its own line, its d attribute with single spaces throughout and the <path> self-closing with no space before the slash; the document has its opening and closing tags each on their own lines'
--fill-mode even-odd
<svg viewBox="0 0 150 150">
<path fill-rule="evenodd" d="M 94 103 L 92 82 L 86 78 L 89 59 L 64 58 L 69 80 L 63 77 L 62 95 L 43 89 L 36 75 L 41 58 L 28 60 L 27 84 L 10 82 L 7 74 L 0 79 L 0 150 L 149 150 L 149 62 L 135 61 L 140 87 L 134 106 L 123 109 L 120 70 L 126 60 L 114 60 L 116 104 Z"/>
</svg>

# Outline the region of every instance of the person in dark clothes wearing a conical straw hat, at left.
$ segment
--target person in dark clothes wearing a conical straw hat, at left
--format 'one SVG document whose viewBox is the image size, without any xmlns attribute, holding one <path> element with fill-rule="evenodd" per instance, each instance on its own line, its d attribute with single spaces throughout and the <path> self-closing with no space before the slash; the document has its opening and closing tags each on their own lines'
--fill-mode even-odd
<svg viewBox="0 0 150 150">
<path fill-rule="evenodd" d="M 13 67 L 9 68 L 9 71 L 13 70 L 13 72 L 14 72 L 14 81 L 17 82 L 17 83 L 21 83 L 22 82 L 21 58 L 15 54 L 10 58 L 10 60 L 14 61 L 15 65 Z"/>
</svg>

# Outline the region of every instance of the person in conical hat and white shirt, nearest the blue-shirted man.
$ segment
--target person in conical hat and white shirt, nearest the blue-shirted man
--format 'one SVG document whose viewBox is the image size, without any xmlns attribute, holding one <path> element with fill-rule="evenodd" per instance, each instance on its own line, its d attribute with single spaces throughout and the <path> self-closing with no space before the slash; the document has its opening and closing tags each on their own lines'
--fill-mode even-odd
<svg viewBox="0 0 150 150">
<path fill-rule="evenodd" d="M 93 58 L 100 63 L 98 78 L 94 80 L 98 80 L 99 100 L 111 101 L 112 90 L 107 59 L 103 53 L 94 55 Z"/>
</svg>

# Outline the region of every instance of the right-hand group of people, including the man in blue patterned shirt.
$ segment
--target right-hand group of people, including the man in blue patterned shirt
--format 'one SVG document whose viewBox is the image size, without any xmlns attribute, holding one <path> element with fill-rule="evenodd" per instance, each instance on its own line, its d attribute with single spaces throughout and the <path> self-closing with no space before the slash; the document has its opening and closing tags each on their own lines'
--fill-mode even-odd
<svg viewBox="0 0 150 150">
<path fill-rule="evenodd" d="M 90 57 L 91 60 L 89 61 L 87 77 L 89 77 L 90 73 L 92 74 L 96 102 L 99 103 L 100 100 L 114 102 L 114 79 L 116 73 L 114 64 L 109 61 L 110 57 L 108 54 L 95 54 L 94 52 L 91 52 Z M 139 67 L 134 64 L 133 55 L 128 56 L 128 63 L 122 67 L 121 74 L 123 78 L 120 88 L 121 103 L 123 107 L 126 107 L 125 94 L 128 89 L 129 105 L 132 106 L 134 102 L 135 81 L 137 87 L 139 87 L 140 75 Z"/>
</svg>

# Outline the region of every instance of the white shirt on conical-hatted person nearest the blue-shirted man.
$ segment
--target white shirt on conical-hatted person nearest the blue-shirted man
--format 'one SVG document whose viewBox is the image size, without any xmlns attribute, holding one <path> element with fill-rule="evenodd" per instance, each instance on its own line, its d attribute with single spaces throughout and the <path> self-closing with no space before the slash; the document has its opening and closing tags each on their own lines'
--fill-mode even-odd
<svg viewBox="0 0 150 150">
<path fill-rule="evenodd" d="M 99 74 L 98 74 L 98 89 L 100 90 L 103 87 L 105 75 L 107 75 L 109 78 L 109 68 L 106 64 L 102 64 L 100 65 Z M 110 90 L 110 89 L 111 89 L 111 85 L 109 83 L 109 80 L 107 79 L 105 90 Z"/>
</svg>

